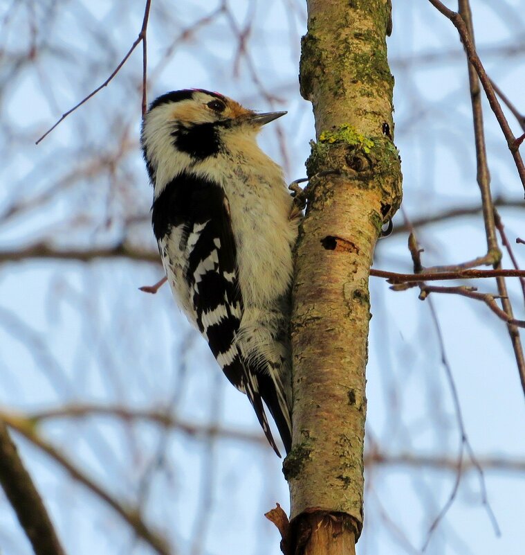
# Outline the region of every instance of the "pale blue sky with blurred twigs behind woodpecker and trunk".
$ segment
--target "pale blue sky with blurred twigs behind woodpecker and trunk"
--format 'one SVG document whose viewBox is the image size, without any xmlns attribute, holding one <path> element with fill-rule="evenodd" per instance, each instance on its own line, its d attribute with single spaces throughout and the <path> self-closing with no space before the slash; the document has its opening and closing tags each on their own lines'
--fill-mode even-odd
<svg viewBox="0 0 525 555">
<path fill-rule="evenodd" d="M 308 141 L 314 138 L 311 106 L 300 97 L 297 83 L 304 4 L 232 0 L 228 12 L 202 20 L 218 4 L 153 0 L 149 100 L 167 90 L 198 87 L 254 109 L 287 109 L 285 118 L 264 130 L 260 143 L 284 165 L 289 181 L 304 177 Z M 448 6 L 456 8 L 453 2 Z M 106 89 L 34 145 L 60 114 L 109 76 L 136 38 L 143 8 L 142 1 L 0 0 L 7 29 L 0 37 L 1 249 L 40 240 L 89 249 L 123 237 L 154 249 L 147 222 L 151 188 L 138 147 L 140 49 Z M 472 0 L 472 10 L 481 60 L 525 112 L 523 2 Z M 199 29 L 184 33 L 196 21 L 201 21 Z M 248 21 L 253 21 L 246 43 L 250 58 L 242 56 L 235 64 L 238 39 L 233 29 Z M 17 65 L 26 59 L 33 40 L 39 55 Z M 456 30 L 427 1 L 394 1 L 388 48 L 396 78 L 395 141 L 403 161 L 407 215 L 416 219 L 454 206 L 479 205 L 466 62 Z M 279 101 L 270 103 L 264 91 Z M 504 138 L 486 102 L 484 106 L 493 194 L 522 199 Z M 508 117 L 515 134 L 521 134 L 515 119 Z M 93 165 L 122 145 L 116 167 L 100 170 L 100 164 Z M 10 206 L 30 203 L 46 191 L 47 200 L 9 216 Z M 525 247 L 514 244 L 517 236 L 525 236 L 523 206 L 502 208 L 501 215 L 525 267 Z M 137 218 L 140 222 L 129 224 Z M 398 214 L 394 227 L 402 223 Z M 418 239 L 425 248 L 425 265 L 465 261 L 486 248 L 479 214 L 422 227 Z M 381 240 L 374 266 L 410 271 L 406 240 L 406 234 Z M 504 264 L 510 267 L 508 256 Z M 223 378 L 169 290 L 156 296 L 138 292 L 160 275 L 158 265 L 116 259 L 87 265 L 4 263 L 1 407 L 28 412 L 64 403 L 171 407 L 184 421 L 259 434 L 248 400 Z M 491 281 L 476 285 L 495 292 Z M 429 303 L 419 301 L 416 290 L 393 292 L 381 279 L 371 278 L 370 286 L 374 317 L 367 448 L 374 443 L 389 455 L 455 460 L 457 418 Z M 516 315 L 524 318 L 517 281 L 509 280 L 508 286 Z M 470 299 L 435 295 L 433 302 L 476 457 L 525 461 L 524 395 L 504 324 Z M 202 441 L 180 432 L 165 434 L 151 423 L 131 425 L 109 417 L 55 419 L 39 431 L 120 500 L 142 499 L 145 520 L 169 538 L 174 554 L 279 554 L 277 531 L 263 514 L 275 502 L 288 509 L 288 488 L 282 462 L 257 436 L 249 443 Z M 68 554 L 152 553 L 111 509 L 28 442 L 17 435 L 15 439 Z M 156 466 L 158 453 L 163 456 Z M 481 503 L 479 477 L 466 473 L 426 553 L 522 555 L 524 477 L 523 471 L 486 470 L 488 500 L 501 528 L 498 538 Z M 421 552 L 454 479 L 448 470 L 426 467 L 369 469 L 358 554 Z M 0 554 L 30 552 L 0 496 Z"/>
</svg>

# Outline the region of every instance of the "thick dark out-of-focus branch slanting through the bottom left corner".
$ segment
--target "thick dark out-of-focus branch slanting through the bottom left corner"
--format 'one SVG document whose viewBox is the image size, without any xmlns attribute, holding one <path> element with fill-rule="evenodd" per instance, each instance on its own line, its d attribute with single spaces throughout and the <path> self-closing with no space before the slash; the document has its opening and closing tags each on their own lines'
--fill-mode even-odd
<svg viewBox="0 0 525 555">
<path fill-rule="evenodd" d="M 46 507 L 0 418 L 0 484 L 36 555 L 64 555 Z"/>
</svg>

